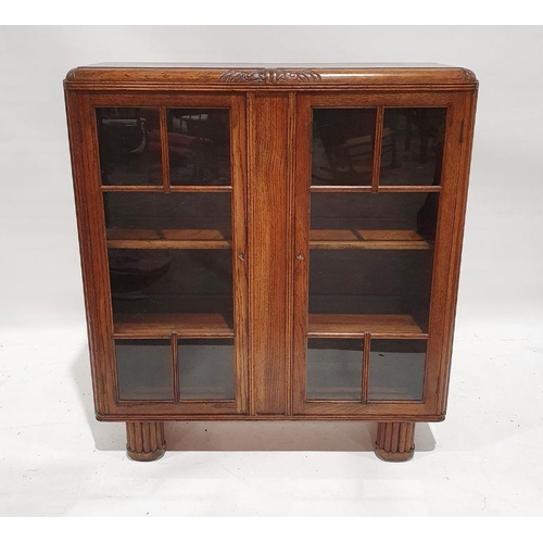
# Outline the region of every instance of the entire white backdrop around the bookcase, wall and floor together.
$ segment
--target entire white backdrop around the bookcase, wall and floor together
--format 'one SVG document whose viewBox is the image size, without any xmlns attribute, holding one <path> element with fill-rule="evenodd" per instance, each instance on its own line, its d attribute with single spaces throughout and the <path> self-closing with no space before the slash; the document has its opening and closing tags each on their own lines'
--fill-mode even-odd
<svg viewBox="0 0 543 543">
<path fill-rule="evenodd" d="M 0 515 L 541 515 L 542 51 L 543 27 L 1 28 Z M 62 80 L 115 61 L 477 74 L 450 415 L 412 463 L 361 422 L 194 422 L 142 466 L 94 420 Z"/>
</svg>

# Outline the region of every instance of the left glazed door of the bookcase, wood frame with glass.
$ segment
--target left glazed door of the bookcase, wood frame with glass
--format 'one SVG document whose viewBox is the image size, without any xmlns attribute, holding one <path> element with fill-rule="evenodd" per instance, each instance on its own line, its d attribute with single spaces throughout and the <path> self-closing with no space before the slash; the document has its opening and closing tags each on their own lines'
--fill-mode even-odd
<svg viewBox="0 0 543 543">
<path fill-rule="evenodd" d="M 100 93 L 88 111 L 109 414 L 245 413 L 243 97 Z"/>
</svg>

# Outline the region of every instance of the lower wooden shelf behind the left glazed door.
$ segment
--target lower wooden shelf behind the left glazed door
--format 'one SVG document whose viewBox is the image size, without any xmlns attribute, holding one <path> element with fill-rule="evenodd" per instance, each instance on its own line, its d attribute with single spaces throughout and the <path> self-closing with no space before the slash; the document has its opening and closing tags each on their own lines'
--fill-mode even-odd
<svg viewBox="0 0 543 543">
<path fill-rule="evenodd" d="M 222 314 L 115 315 L 113 336 L 127 338 L 233 338 L 233 328 Z"/>
</svg>

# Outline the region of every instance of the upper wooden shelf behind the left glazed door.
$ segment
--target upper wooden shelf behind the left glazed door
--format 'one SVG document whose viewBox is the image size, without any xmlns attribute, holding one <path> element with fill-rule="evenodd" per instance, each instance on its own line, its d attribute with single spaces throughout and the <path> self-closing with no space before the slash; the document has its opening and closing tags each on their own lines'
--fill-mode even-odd
<svg viewBox="0 0 543 543">
<path fill-rule="evenodd" d="M 140 230 L 108 228 L 109 249 L 228 249 L 228 228 Z"/>
</svg>

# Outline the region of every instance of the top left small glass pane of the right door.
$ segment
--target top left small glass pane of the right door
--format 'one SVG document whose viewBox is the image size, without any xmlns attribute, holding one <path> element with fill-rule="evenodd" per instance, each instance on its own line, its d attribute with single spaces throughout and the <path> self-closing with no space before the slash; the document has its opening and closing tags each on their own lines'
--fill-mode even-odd
<svg viewBox="0 0 543 543">
<path fill-rule="evenodd" d="M 312 185 L 371 185 L 376 113 L 313 110 Z"/>
</svg>

